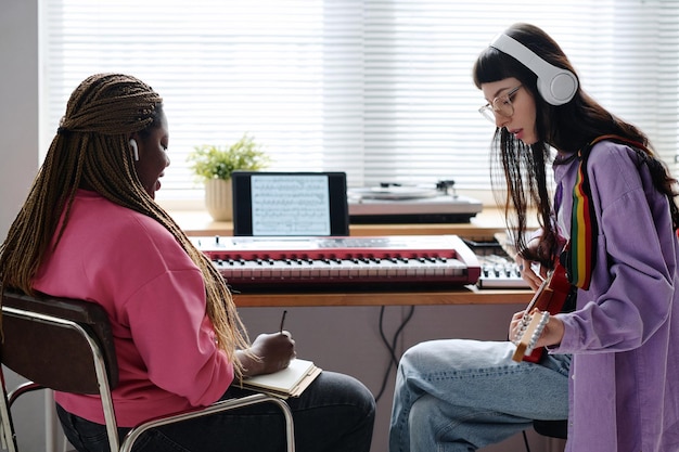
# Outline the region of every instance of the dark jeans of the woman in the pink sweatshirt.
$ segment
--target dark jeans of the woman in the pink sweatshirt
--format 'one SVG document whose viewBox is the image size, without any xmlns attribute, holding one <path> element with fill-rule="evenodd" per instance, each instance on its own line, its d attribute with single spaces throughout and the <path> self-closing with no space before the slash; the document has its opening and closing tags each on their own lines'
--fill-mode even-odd
<svg viewBox="0 0 679 452">
<path fill-rule="evenodd" d="M 252 393 L 231 387 L 225 398 Z M 287 400 L 300 452 L 369 452 L 375 401 L 357 379 L 333 372 L 321 375 L 299 398 Z M 68 441 L 79 452 L 110 452 L 106 429 L 56 405 Z M 272 403 L 158 427 L 144 434 L 134 452 L 280 452 L 284 419 Z M 118 429 L 123 438 L 129 428 Z"/>
</svg>

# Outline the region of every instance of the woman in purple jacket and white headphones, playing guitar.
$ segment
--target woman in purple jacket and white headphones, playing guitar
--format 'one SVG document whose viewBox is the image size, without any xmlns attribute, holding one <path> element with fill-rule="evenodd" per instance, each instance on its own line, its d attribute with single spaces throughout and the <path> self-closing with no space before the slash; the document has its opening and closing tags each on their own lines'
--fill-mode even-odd
<svg viewBox="0 0 679 452">
<path fill-rule="evenodd" d="M 496 126 L 494 190 L 522 275 L 556 287 L 566 309 L 547 318 L 537 362 L 512 360 L 507 340 L 407 350 L 390 451 L 469 452 L 534 419 L 566 418 L 568 452 L 679 450 L 676 181 L 643 132 L 582 91 L 540 28 L 516 24 L 496 37 L 473 77 Z M 541 228 L 524 238 L 529 215 Z M 545 269 L 560 271 L 543 281 Z M 512 317 L 510 338 L 523 318 Z"/>
</svg>

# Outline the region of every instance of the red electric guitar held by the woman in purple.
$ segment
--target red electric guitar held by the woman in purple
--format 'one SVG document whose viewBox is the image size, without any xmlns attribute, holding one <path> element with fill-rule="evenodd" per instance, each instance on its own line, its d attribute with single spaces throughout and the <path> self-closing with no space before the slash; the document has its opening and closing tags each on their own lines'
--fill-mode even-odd
<svg viewBox="0 0 679 452">
<path fill-rule="evenodd" d="M 566 270 L 556 262 L 556 267 L 542 282 L 524 311 L 521 331 L 513 340 L 516 345 L 516 351 L 512 356 L 514 361 L 540 361 L 545 350 L 541 347 L 535 348 L 535 344 L 549 317 L 561 312 L 569 292 L 571 283 L 566 277 Z"/>
</svg>

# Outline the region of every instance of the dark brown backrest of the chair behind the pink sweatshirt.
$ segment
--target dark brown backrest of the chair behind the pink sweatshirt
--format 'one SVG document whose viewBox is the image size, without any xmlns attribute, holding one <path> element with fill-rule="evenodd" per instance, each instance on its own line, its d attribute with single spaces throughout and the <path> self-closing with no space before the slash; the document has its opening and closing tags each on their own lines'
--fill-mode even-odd
<svg viewBox="0 0 679 452">
<path fill-rule="evenodd" d="M 74 324 L 82 328 L 84 335 Z M 118 367 L 111 324 L 104 309 L 82 300 L 2 294 L 2 364 L 57 391 L 100 393 L 88 336 L 99 346 L 114 388 Z"/>
</svg>

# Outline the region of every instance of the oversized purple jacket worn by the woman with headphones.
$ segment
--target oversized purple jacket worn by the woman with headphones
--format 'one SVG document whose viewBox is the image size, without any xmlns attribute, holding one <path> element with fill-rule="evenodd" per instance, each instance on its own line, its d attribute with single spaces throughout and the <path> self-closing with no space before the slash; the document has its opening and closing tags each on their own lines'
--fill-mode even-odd
<svg viewBox="0 0 679 452">
<path fill-rule="evenodd" d="M 578 166 L 554 166 L 565 237 Z M 598 143 L 587 170 L 598 258 L 551 349 L 573 353 L 566 450 L 679 451 L 679 246 L 667 198 L 625 145 Z"/>
</svg>

